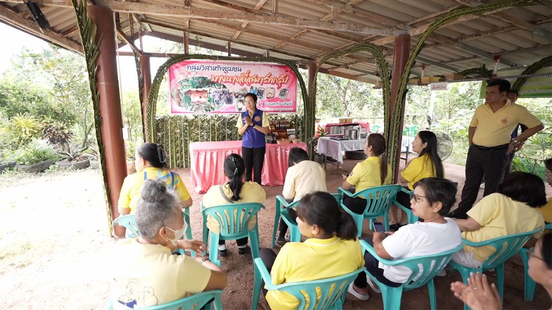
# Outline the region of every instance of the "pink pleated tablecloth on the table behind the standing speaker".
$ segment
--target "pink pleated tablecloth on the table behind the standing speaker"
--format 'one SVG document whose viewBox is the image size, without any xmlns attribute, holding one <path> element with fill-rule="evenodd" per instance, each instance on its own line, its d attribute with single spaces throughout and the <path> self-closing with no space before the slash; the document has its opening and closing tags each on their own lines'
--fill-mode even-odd
<svg viewBox="0 0 552 310">
<path fill-rule="evenodd" d="M 284 185 L 285 174 L 288 171 L 289 150 L 293 147 L 306 150 L 307 146 L 305 143 L 267 144 L 261 175 L 263 185 Z M 226 182 L 224 159 L 232 153 L 241 155 L 241 141 L 190 143 L 192 186 L 197 193 L 206 193 L 211 186 Z"/>
</svg>

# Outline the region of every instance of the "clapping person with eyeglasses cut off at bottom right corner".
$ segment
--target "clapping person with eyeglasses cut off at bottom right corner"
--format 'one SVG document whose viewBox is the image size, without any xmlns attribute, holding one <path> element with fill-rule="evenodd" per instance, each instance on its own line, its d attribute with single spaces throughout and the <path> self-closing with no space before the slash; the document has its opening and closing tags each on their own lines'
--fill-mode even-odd
<svg viewBox="0 0 552 310">
<path fill-rule="evenodd" d="M 552 234 L 545 233 L 535 244 L 529 256 L 529 276 L 542 285 L 552 298 Z M 489 285 L 487 276 L 477 272 L 471 274 L 468 285 L 457 281 L 450 284 L 450 290 L 459 300 L 473 310 L 502 310 L 502 298 L 495 284 Z"/>
</svg>

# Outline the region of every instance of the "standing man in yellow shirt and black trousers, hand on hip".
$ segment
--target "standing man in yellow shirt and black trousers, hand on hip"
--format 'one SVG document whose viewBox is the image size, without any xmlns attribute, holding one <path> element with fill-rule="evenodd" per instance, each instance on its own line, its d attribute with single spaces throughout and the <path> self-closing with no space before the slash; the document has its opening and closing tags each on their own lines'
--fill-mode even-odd
<svg viewBox="0 0 552 310">
<path fill-rule="evenodd" d="M 485 104 L 477 106 L 468 133 L 470 148 L 466 158 L 466 180 L 458 209 L 448 217 L 468 218 L 485 176 L 483 196 L 495 193 L 504 177 L 508 154 L 530 136 L 544 129 L 543 123 L 524 106 L 513 104 L 506 96 L 510 83 L 496 79 L 487 84 Z M 518 124 L 528 127 L 511 139 Z"/>
</svg>

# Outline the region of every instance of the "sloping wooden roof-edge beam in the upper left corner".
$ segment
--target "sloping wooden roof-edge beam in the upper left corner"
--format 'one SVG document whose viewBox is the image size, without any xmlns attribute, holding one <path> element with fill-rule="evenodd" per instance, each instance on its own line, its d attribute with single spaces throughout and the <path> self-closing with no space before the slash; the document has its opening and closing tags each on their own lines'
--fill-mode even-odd
<svg viewBox="0 0 552 310">
<path fill-rule="evenodd" d="M 0 20 L 27 33 L 39 36 L 40 38 L 44 38 L 45 40 L 48 40 L 65 49 L 82 54 L 82 46 L 77 42 L 67 38 L 63 38 L 62 35 L 56 33 L 53 29 L 51 31 L 41 31 L 39 26 L 33 20 L 20 17 L 16 12 L 14 12 L 12 9 L 8 8 L 4 4 L 0 5 Z"/>
</svg>

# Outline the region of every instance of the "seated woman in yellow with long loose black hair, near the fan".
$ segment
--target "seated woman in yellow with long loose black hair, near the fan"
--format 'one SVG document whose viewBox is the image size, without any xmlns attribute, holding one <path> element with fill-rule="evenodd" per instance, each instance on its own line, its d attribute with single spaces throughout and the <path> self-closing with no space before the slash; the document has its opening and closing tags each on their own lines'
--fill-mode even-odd
<svg viewBox="0 0 552 310">
<path fill-rule="evenodd" d="M 404 186 L 405 189 L 414 190 L 413 185 L 424 178 L 444 178 L 445 172 L 443 162 L 437 153 L 437 137 L 435 133 L 427 130 L 418 132 L 416 138 L 412 141 L 412 151 L 416 152 L 418 157 L 412 158 L 399 174 L 400 183 L 408 184 Z M 410 196 L 402 191 L 397 194 L 397 202 L 410 208 Z M 397 221 L 397 211 L 401 213 L 400 222 Z M 391 207 L 389 217 L 389 227 L 394 230 L 399 229 L 400 226 L 404 226 L 408 222 L 406 213 L 395 205 Z"/>
</svg>

